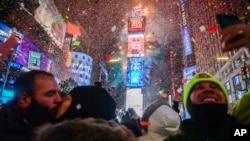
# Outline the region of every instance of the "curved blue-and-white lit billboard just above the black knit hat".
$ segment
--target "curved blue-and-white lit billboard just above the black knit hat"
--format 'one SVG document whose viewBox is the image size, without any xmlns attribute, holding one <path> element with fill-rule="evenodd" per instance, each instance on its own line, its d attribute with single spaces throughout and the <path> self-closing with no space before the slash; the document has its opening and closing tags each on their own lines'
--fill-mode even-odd
<svg viewBox="0 0 250 141">
<path fill-rule="evenodd" d="M 93 58 L 81 52 L 71 52 L 71 57 L 70 71 L 73 73 L 73 80 L 79 86 L 90 85 Z"/>
</svg>

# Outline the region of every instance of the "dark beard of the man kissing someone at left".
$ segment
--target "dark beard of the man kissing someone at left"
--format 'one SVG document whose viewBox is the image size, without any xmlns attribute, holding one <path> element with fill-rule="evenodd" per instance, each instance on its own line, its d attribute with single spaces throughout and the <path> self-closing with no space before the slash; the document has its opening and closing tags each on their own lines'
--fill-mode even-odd
<svg viewBox="0 0 250 141">
<path fill-rule="evenodd" d="M 44 123 L 53 122 L 54 116 L 49 108 L 42 106 L 35 99 L 32 99 L 27 109 L 26 120 L 31 126 L 37 127 Z"/>
</svg>

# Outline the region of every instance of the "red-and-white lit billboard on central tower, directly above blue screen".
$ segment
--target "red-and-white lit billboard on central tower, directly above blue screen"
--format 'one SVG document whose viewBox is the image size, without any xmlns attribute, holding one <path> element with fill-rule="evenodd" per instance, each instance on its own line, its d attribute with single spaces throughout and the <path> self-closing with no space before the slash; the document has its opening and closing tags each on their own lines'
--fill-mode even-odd
<svg viewBox="0 0 250 141">
<path fill-rule="evenodd" d="M 128 35 L 128 57 L 144 56 L 144 34 Z"/>
</svg>

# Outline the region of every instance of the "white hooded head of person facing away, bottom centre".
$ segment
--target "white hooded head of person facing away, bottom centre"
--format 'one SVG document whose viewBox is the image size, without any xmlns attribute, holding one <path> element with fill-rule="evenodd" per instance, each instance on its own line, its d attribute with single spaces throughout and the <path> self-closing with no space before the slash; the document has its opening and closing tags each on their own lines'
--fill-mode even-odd
<svg viewBox="0 0 250 141">
<path fill-rule="evenodd" d="M 180 126 L 180 116 L 166 102 L 156 101 L 146 108 L 142 120 L 148 119 L 147 133 L 140 141 L 162 141 L 175 135 Z"/>
</svg>

